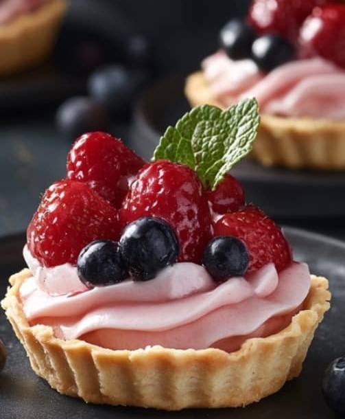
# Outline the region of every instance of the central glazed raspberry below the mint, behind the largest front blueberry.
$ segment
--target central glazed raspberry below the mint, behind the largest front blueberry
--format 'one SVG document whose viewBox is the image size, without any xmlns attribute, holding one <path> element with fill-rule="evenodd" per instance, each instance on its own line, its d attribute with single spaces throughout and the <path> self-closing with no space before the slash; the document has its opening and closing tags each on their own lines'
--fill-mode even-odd
<svg viewBox="0 0 345 419">
<path fill-rule="evenodd" d="M 180 261 L 200 262 L 211 237 L 211 214 L 193 170 L 166 160 L 144 166 L 123 201 L 121 225 L 143 216 L 163 218 L 175 229 Z"/>
</svg>

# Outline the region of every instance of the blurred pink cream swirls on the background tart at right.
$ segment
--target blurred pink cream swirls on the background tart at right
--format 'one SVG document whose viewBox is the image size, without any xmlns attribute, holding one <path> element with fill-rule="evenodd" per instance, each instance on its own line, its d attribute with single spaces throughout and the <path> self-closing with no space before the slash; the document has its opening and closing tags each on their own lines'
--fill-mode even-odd
<svg viewBox="0 0 345 419">
<path fill-rule="evenodd" d="M 219 51 L 202 68 L 224 106 L 254 97 L 269 115 L 345 119 L 345 71 L 323 58 L 292 61 L 264 74 L 252 60 L 233 61 Z"/>
</svg>

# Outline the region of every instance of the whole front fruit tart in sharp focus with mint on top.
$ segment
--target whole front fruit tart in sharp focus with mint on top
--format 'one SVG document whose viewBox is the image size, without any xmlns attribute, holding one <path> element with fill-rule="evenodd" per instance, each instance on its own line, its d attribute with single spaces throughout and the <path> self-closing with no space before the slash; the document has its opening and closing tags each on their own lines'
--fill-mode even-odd
<svg viewBox="0 0 345 419">
<path fill-rule="evenodd" d="M 91 403 L 237 407 L 300 374 L 331 295 L 229 174 L 257 109 L 193 109 L 151 163 L 106 133 L 75 141 L 1 303 L 51 387 Z"/>
</svg>

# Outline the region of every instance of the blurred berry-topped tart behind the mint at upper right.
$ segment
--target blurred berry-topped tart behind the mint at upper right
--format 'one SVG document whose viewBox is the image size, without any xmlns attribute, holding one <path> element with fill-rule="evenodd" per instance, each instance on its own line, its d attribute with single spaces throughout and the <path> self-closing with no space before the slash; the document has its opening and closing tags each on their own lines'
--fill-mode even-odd
<svg viewBox="0 0 345 419">
<path fill-rule="evenodd" d="M 221 30 L 220 49 L 187 78 L 193 106 L 255 97 L 252 157 L 265 166 L 345 169 L 345 4 L 253 0 Z"/>
</svg>

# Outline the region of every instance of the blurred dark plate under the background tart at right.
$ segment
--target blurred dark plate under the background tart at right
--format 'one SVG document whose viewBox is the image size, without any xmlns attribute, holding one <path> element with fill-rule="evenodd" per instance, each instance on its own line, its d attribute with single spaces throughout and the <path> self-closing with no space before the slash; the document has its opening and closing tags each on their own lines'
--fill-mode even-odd
<svg viewBox="0 0 345 419">
<path fill-rule="evenodd" d="M 165 128 L 190 109 L 184 83 L 185 76 L 162 80 L 148 89 L 136 106 L 132 146 L 147 159 Z M 248 201 L 276 218 L 345 214 L 345 172 L 265 168 L 247 159 L 233 174 L 245 185 Z"/>
</svg>

